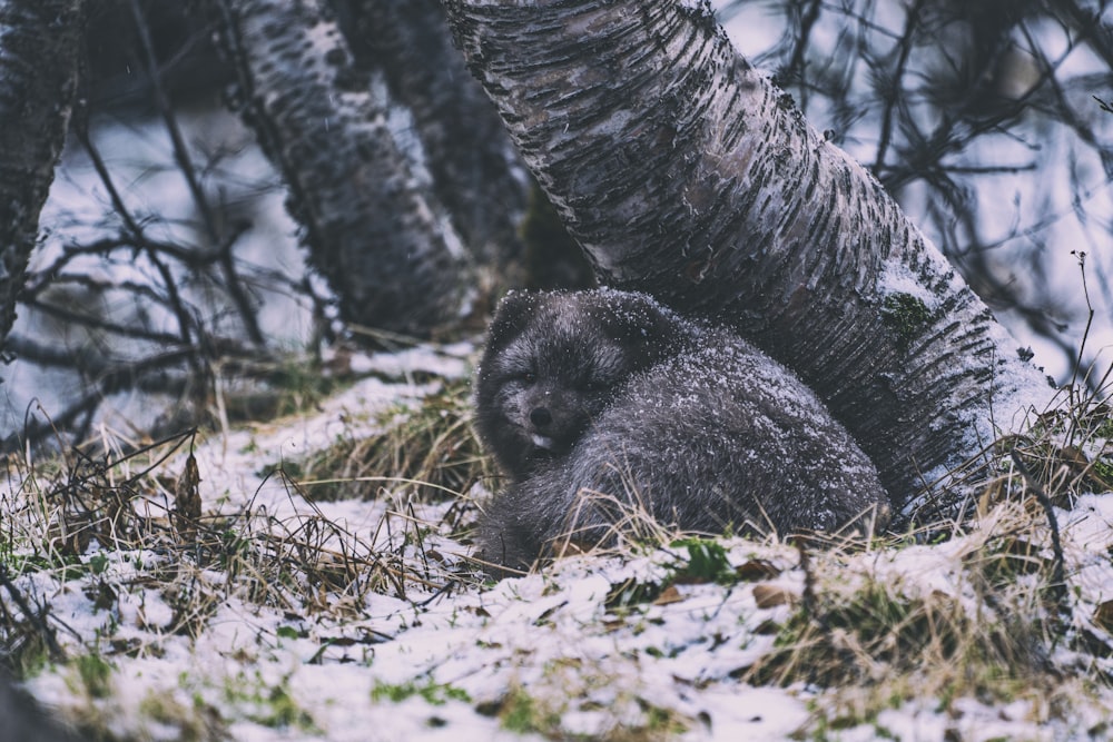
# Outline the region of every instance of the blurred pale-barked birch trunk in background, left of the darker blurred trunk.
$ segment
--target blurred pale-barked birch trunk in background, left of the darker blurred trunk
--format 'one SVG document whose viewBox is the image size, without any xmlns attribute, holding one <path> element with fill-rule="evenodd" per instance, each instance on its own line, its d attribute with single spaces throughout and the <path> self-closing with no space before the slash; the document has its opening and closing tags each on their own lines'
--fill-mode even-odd
<svg viewBox="0 0 1113 742">
<path fill-rule="evenodd" d="M 353 62 L 323 1 L 208 0 L 244 115 L 289 188 L 341 317 L 427 336 L 460 311 L 459 238 L 414 181 L 385 91 Z"/>
</svg>

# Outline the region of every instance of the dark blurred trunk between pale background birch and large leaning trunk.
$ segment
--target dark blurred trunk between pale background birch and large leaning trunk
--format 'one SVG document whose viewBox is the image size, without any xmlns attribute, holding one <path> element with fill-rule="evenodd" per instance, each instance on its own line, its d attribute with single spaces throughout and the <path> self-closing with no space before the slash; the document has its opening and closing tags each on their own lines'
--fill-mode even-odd
<svg viewBox="0 0 1113 742">
<path fill-rule="evenodd" d="M 472 78 L 439 0 L 334 0 L 357 58 L 382 70 L 414 119 L 436 199 L 483 264 L 521 259 L 529 184 L 506 129 Z M 516 170 L 516 172 L 515 172 Z"/>
</svg>

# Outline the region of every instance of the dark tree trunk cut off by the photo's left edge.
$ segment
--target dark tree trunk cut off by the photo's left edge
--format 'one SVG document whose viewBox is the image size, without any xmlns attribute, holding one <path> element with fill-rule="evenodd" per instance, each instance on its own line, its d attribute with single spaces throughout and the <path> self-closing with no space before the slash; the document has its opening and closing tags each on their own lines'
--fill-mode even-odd
<svg viewBox="0 0 1113 742">
<path fill-rule="evenodd" d="M 0 349 L 77 90 L 83 0 L 0 2 Z"/>
</svg>

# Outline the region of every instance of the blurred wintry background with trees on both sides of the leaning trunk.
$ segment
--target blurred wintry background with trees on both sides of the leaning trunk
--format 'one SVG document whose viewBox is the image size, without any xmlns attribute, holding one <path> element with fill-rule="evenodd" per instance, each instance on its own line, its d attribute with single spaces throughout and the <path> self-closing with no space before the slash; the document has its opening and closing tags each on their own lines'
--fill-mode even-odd
<svg viewBox="0 0 1113 742">
<path fill-rule="evenodd" d="M 1104 2 L 717 10 L 1036 363 L 1104 370 Z M 106 0 L 81 53 L 3 347 L 6 449 L 278 410 L 305 357 L 343 373 L 339 348 L 471 334 L 506 287 L 590 281 L 436 0 Z"/>
</svg>

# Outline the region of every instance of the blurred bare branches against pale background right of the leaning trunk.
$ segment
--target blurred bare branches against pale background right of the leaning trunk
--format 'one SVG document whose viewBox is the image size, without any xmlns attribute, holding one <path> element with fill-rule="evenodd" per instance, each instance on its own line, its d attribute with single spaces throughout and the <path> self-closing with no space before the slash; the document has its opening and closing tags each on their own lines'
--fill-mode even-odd
<svg viewBox="0 0 1113 742">
<path fill-rule="evenodd" d="M 1113 87 L 1107 7 L 728 0 L 720 14 L 1066 383 L 1104 372 L 1113 339 L 1113 139 L 1094 100 Z"/>
</svg>

